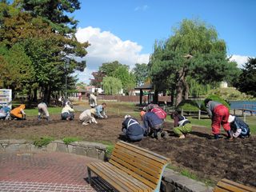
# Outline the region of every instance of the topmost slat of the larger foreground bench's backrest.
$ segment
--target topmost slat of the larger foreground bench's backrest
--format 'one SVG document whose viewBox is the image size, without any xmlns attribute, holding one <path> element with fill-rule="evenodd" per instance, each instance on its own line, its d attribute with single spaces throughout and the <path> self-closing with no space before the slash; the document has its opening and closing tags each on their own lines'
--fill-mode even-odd
<svg viewBox="0 0 256 192">
<path fill-rule="evenodd" d="M 154 153 L 152 151 L 143 149 L 142 147 L 134 146 L 134 145 L 132 145 L 130 143 L 126 143 L 126 142 L 118 142 L 117 144 L 120 145 L 120 146 L 123 146 L 123 147 L 125 147 L 125 148 L 127 148 L 129 150 L 135 151 L 135 152 L 137 152 L 139 154 L 142 154 L 142 151 L 144 151 L 144 152 L 146 152 L 145 156 L 147 158 L 152 158 L 152 159 L 154 159 L 157 162 L 162 162 L 164 164 L 166 162 L 170 162 L 170 158 L 166 158 L 166 157 L 162 156 L 161 154 L 156 154 L 156 153 Z"/>
</svg>

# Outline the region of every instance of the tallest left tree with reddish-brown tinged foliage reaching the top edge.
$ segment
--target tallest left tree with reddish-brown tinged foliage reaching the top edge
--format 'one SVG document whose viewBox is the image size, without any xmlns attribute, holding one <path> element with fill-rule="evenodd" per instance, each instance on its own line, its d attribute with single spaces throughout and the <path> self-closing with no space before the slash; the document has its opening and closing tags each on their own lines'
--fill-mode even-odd
<svg viewBox="0 0 256 192">
<path fill-rule="evenodd" d="M 49 102 L 53 90 L 63 90 L 65 75 L 74 85 L 70 74 L 83 70 L 86 62 L 74 59 L 84 57 L 88 42 L 79 43 L 74 36 L 76 21 L 67 16 L 79 9 L 78 1 L 14 1 L 1 2 L 0 40 L 7 47 L 19 43 L 30 58 L 34 71 L 31 81 L 37 82 Z M 66 67 L 66 58 L 70 58 Z M 36 95 L 36 94 L 35 94 Z"/>
</svg>

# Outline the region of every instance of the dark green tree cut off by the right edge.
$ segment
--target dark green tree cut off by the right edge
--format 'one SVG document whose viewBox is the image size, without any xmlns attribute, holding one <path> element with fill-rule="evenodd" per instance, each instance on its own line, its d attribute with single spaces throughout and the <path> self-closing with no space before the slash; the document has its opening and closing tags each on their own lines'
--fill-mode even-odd
<svg viewBox="0 0 256 192">
<path fill-rule="evenodd" d="M 238 90 L 256 97 L 256 58 L 248 58 L 234 86 Z"/>
</svg>

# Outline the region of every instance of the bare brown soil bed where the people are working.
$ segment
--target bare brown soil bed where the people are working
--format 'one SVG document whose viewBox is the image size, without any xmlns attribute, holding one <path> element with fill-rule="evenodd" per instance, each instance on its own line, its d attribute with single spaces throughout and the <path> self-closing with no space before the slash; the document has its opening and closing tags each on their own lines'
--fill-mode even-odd
<svg viewBox="0 0 256 192">
<path fill-rule="evenodd" d="M 82 126 L 78 115 L 70 122 L 60 120 L 59 115 L 50 116 L 50 122 L 38 122 L 36 117 L 23 121 L 0 121 L 0 139 L 33 140 L 46 135 L 55 139 L 76 137 L 90 142 L 117 142 L 123 139 L 121 116 L 110 116 L 108 119 L 99 119 L 98 124 Z M 256 137 L 215 141 L 210 136 L 209 128 L 193 127 L 193 132 L 185 139 L 178 139 L 172 127 L 172 123 L 165 122 L 170 138 L 159 141 L 144 138 L 134 144 L 169 157 L 173 166 L 190 170 L 199 178 L 208 178 L 214 182 L 228 178 L 256 187 Z"/>
</svg>

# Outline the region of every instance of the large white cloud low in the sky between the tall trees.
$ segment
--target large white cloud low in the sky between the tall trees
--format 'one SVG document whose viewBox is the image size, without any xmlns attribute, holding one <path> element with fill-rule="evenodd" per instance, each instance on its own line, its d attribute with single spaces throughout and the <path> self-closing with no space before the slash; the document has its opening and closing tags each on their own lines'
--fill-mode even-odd
<svg viewBox="0 0 256 192">
<path fill-rule="evenodd" d="M 101 31 L 99 28 L 88 26 L 79 28 L 76 37 L 78 42 L 90 43 L 86 49 L 86 70 L 78 73 L 79 81 L 90 82 L 91 73 L 97 71 L 103 62 L 118 61 L 122 64 L 134 67 L 136 63 L 148 63 L 150 54 L 140 54 L 142 46 L 130 40 L 122 41 L 110 31 Z"/>
</svg>

